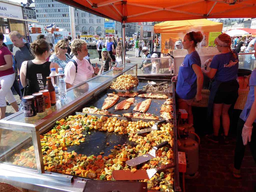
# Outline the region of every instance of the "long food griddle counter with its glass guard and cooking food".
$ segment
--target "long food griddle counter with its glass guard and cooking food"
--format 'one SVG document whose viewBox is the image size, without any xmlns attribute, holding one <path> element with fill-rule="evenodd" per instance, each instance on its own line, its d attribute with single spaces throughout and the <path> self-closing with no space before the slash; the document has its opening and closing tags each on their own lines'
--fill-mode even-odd
<svg viewBox="0 0 256 192">
<path fill-rule="evenodd" d="M 148 159 L 136 168 L 144 167 L 143 170 L 147 166 L 154 168 L 170 164 L 168 170 L 154 176 L 158 178 L 158 184 L 152 182 L 149 189 L 160 190 L 159 183 L 162 182 L 161 186 L 166 189 L 179 190 L 178 164 L 175 163 L 175 100 L 170 78 L 165 80 L 165 85 L 159 85 L 165 87 L 165 92 L 158 92 L 157 97 L 153 97 L 152 91 L 147 92 L 149 88 L 152 90 L 148 80 L 138 81 L 136 71 L 136 64 L 126 64 L 121 71 L 107 71 L 69 89 L 67 101 L 59 102 L 46 112 L 31 118 L 18 112 L 1 120 L 0 181 L 36 191 L 83 191 L 90 183 L 86 182 L 88 178 L 112 180 L 113 170 L 132 169 L 125 161 L 166 142 L 165 146 L 159 146 L 162 150 L 157 151 L 155 159 L 147 162 Z M 130 83 L 125 83 L 126 80 Z M 144 98 L 147 95 L 150 99 Z M 121 102 L 116 101 L 117 105 L 113 106 L 108 103 L 108 98 L 118 98 Z M 130 99 L 134 104 L 127 110 L 121 110 L 122 103 Z M 149 100 L 152 102 L 148 108 L 141 109 L 141 103 Z M 163 116 L 163 106 L 172 109 L 172 113 Z M 136 107 L 137 111 L 144 113 L 134 111 Z M 154 134 L 136 134 L 139 129 L 151 127 L 164 118 L 167 122 L 159 124 L 161 129 L 155 130 Z M 52 179 L 54 182 L 49 182 Z M 142 183 L 141 188 L 145 185 Z"/>
</svg>

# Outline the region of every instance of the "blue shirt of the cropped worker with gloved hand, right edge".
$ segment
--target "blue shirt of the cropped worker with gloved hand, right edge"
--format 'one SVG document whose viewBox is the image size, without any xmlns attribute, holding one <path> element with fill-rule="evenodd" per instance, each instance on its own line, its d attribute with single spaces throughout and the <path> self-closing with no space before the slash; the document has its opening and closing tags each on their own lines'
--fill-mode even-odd
<svg viewBox="0 0 256 192">
<path fill-rule="evenodd" d="M 249 86 L 250 86 L 250 91 L 248 93 L 248 96 L 247 96 L 247 101 L 245 103 L 245 106 L 244 106 L 244 109 L 243 111 L 241 112 L 240 114 L 240 118 L 243 120 L 243 121 L 246 121 L 248 116 L 249 116 L 249 113 L 251 111 L 251 106 L 252 106 L 252 103 L 255 99 L 255 95 L 254 95 L 254 89 L 255 89 L 255 86 L 256 86 L 256 69 L 254 69 L 252 72 L 251 72 L 251 77 L 250 77 L 250 81 L 249 81 Z M 254 123 L 256 123 L 256 119 L 254 120 Z"/>
</svg>

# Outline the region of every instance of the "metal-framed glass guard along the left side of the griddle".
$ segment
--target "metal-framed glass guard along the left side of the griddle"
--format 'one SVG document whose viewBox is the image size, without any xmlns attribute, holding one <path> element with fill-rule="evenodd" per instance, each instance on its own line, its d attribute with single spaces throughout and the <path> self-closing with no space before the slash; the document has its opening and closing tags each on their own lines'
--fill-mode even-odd
<svg viewBox="0 0 256 192">
<path fill-rule="evenodd" d="M 109 70 L 100 76 L 80 83 L 67 91 L 67 100 L 57 101 L 55 106 L 34 117 L 24 117 L 24 113 L 16 112 L 0 120 L 0 164 L 5 167 L 17 166 L 28 168 L 38 173 L 44 172 L 40 133 L 49 129 L 56 120 L 76 111 L 93 96 L 109 87 L 113 80 L 126 73 L 136 70 L 136 64 L 125 64 L 121 71 Z M 27 156 L 17 155 L 17 151 L 29 148 Z M 15 156 L 16 155 L 16 156 Z M 12 156 L 12 158 L 7 158 Z M 12 161 L 12 163 L 10 162 Z"/>
</svg>

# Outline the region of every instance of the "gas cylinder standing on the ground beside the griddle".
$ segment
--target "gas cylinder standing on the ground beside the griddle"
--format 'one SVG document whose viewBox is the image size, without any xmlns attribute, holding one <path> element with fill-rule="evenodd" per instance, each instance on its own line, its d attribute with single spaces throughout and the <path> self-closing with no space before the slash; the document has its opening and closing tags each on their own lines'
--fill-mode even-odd
<svg viewBox="0 0 256 192">
<path fill-rule="evenodd" d="M 180 138 L 178 140 L 178 151 L 185 152 L 187 158 L 186 178 L 198 176 L 199 150 L 198 143 L 191 138 Z"/>
</svg>

